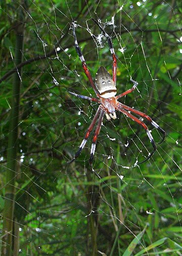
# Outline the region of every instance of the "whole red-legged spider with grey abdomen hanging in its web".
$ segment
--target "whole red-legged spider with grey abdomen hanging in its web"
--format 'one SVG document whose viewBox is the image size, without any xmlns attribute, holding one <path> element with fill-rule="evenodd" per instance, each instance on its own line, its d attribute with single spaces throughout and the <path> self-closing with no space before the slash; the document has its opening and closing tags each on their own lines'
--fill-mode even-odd
<svg viewBox="0 0 182 256">
<path fill-rule="evenodd" d="M 90 166 L 92 167 L 92 163 L 93 163 L 93 159 L 94 159 L 94 153 L 95 153 L 95 150 L 96 150 L 96 142 L 97 142 L 100 130 L 101 130 L 101 125 L 102 125 L 104 115 L 106 115 L 106 119 L 110 121 L 111 118 L 112 119 L 117 118 L 116 117 L 116 111 L 119 111 L 119 112 L 123 113 L 126 117 L 132 119 L 134 122 L 141 125 L 146 130 L 147 136 L 149 137 L 149 139 L 152 143 L 153 151 L 151 153 L 149 153 L 148 157 L 144 161 L 142 161 L 138 164 L 144 163 L 154 154 L 157 147 L 156 147 L 155 141 L 152 137 L 151 131 L 148 129 L 147 125 L 143 121 L 141 121 L 139 118 L 133 116 L 131 113 L 146 119 L 148 122 L 150 122 L 155 128 L 157 128 L 163 134 L 163 137 L 162 137 L 161 141 L 158 142 L 158 144 L 162 143 L 162 141 L 164 140 L 165 131 L 156 122 L 154 122 L 148 115 L 146 115 L 145 113 L 140 112 L 138 110 L 135 110 L 134 108 L 129 107 L 127 105 L 124 105 L 123 103 L 120 103 L 118 101 L 119 98 L 127 95 L 128 93 L 131 93 L 136 88 L 136 86 L 138 85 L 138 82 L 135 82 L 134 80 L 132 80 L 130 78 L 130 81 L 133 83 L 132 88 L 130 88 L 129 90 L 127 90 L 127 91 L 125 91 L 125 92 L 116 96 L 116 92 L 117 92 L 117 89 L 116 89 L 117 57 L 116 57 L 115 52 L 114 52 L 112 40 L 111 40 L 111 37 L 102 28 L 102 26 L 95 19 L 93 19 L 93 21 L 99 26 L 102 33 L 107 38 L 109 49 L 110 49 L 110 52 L 111 52 L 111 55 L 112 55 L 112 58 L 113 58 L 112 78 L 111 78 L 109 72 L 106 70 L 106 68 L 104 66 L 100 66 L 100 68 L 98 69 L 98 71 L 96 73 L 96 78 L 95 78 L 95 83 L 94 83 L 94 81 L 92 79 L 92 76 L 90 75 L 90 71 L 89 71 L 89 69 L 86 65 L 83 54 L 81 52 L 81 49 L 78 45 L 77 38 L 76 38 L 76 33 L 75 33 L 76 24 L 73 22 L 72 23 L 72 28 L 73 28 L 73 36 L 74 36 L 74 41 L 75 41 L 74 42 L 75 43 L 75 49 L 76 49 L 76 52 L 77 52 L 77 54 L 78 54 L 78 56 L 81 60 L 82 67 L 84 69 L 85 75 L 88 78 L 89 83 L 93 87 L 93 89 L 94 89 L 98 98 L 92 98 L 92 97 L 88 97 L 88 96 L 84 96 L 84 95 L 79 95 L 79 94 L 76 94 L 74 92 L 69 92 L 69 93 L 71 93 L 72 95 L 74 95 L 76 97 L 82 98 L 82 99 L 95 101 L 95 102 L 99 103 L 100 105 L 98 107 L 98 110 L 96 112 L 96 115 L 95 115 L 92 123 L 89 125 L 89 127 L 88 127 L 88 129 L 85 133 L 84 139 L 82 140 L 78 151 L 76 152 L 74 158 L 70 161 L 70 163 L 72 163 L 80 155 L 80 153 L 83 150 L 83 148 L 85 146 L 85 143 L 86 143 L 90 133 L 94 129 L 94 127 L 97 123 L 97 120 L 98 120 L 96 129 L 95 129 L 95 133 L 94 133 L 94 137 L 93 137 L 93 143 L 92 143 L 91 151 L 90 151 L 90 158 L 89 158 L 89 163 L 90 163 Z"/>
</svg>

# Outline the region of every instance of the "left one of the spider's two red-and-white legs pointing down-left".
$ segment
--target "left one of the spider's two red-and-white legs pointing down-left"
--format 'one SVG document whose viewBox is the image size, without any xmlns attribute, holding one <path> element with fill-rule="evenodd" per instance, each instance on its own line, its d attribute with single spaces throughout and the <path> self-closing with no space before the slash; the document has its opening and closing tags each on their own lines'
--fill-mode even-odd
<svg viewBox="0 0 182 256">
<path fill-rule="evenodd" d="M 80 155 L 80 153 L 81 153 L 82 149 L 84 148 L 84 145 L 86 144 L 86 141 L 87 141 L 87 139 L 88 139 L 88 137 L 90 135 L 90 132 L 92 132 L 92 130 L 93 130 L 95 124 L 96 124 L 96 121 L 99 118 L 100 113 L 101 113 L 101 108 L 99 107 L 97 112 L 96 112 L 96 115 L 95 115 L 95 117 L 94 117 L 94 119 L 92 121 L 92 123 L 90 124 L 90 126 L 88 127 L 88 129 L 87 129 L 87 131 L 85 133 L 84 139 L 82 140 L 82 142 L 81 142 L 81 144 L 79 146 L 78 151 L 76 152 L 74 158 L 69 163 L 72 163 Z"/>
</svg>

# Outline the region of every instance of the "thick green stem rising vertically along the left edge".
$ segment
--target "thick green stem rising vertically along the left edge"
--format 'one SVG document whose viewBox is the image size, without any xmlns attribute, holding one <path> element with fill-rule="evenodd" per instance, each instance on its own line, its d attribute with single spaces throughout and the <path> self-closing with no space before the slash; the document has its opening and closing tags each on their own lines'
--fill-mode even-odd
<svg viewBox="0 0 182 256">
<path fill-rule="evenodd" d="M 16 31 L 16 52 L 14 63 L 19 65 L 22 61 L 23 52 L 23 25 Z M 7 149 L 7 170 L 5 188 L 5 208 L 3 223 L 2 256 L 12 255 L 12 235 L 13 219 L 15 206 L 15 179 L 17 173 L 17 144 L 18 144 L 18 124 L 19 124 L 19 105 L 21 87 L 21 68 L 17 70 L 13 80 L 12 103 L 9 125 L 8 149 Z"/>
</svg>

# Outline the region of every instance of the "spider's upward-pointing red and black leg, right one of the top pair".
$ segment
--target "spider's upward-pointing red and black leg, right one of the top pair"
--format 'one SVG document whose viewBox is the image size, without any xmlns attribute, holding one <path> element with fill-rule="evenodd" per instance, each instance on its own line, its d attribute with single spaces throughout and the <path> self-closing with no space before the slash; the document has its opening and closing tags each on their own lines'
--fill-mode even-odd
<svg viewBox="0 0 182 256">
<path fill-rule="evenodd" d="M 115 52 L 114 52 L 114 47 L 113 47 L 111 37 L 106 33 L 106 31 L 101 27 L 101 25 L 95 19 L 92 19 L 92 20 L 94 20 L 94 22 L 98 25 L 98 27 L 102 30 L 102 32 L 104 33 L 104 35 L 107 38 L 109 49 L 110 49 L 110 52 L 111 52 L 112 58 L 113 58 L 113 70 L 112 70 L 113 81 L 116 84 L 117 58 L 116 58 L 116 55 L 115 55 Z"/>
</svg>

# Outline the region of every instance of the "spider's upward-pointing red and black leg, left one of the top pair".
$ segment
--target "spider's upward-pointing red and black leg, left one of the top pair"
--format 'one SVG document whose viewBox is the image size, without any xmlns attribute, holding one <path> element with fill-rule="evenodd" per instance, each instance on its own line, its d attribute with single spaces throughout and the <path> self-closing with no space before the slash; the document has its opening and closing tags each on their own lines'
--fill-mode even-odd
<svg viewBox="0 0 182 256">
<path fill-rule="evenodd" d="M 79 58 L 80 58 L 80 60 L 81 60 L 82 67 L 83 67 L 83 69 L 84 69 L 85 75 L 87 76 L 87 78 L 88 78 L 90 84 L 92 85 L 92 87 L 93 87 L 93 89 L 94 89 L 96 95 L 99 97 L 98 91 L 97 91 L 97 89 L 96 89 L 96 86 L 95 86 L 95 84 L 94 84 L 94 81 L 93 81 L 93 79 L 92 79 L 92 77 L 91 77 L 91 75 L 90 75 L 90 71 L 89 71 L 89 69 L 87 68 L 85 59 L 84 59 L 84 57 L 83 57 L 83 54 L 82 54 L 81 49 L 80 49 L 80 47 L 79 47 L 79 45 L 78 45 L 78 42 L 77 42 L 76 33 L 75 33 L 75 23 L 74 23 L 74 22 L 72 23 L 72 27 L 73 27 L 73 36 L 74 36 L 74 40 L 75 40 L 75 49 L 76 49 L 76 52 L 77 52 L 77 54 L 78 54 L 78 56 L 79 56 Z"/>
</svg>

